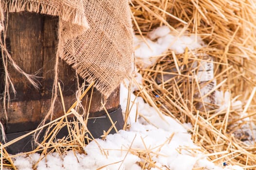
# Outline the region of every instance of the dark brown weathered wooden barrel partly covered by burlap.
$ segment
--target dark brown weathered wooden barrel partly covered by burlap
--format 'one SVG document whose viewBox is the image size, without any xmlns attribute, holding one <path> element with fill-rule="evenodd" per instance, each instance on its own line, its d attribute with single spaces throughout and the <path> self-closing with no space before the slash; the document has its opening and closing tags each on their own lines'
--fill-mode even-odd
<svg viewBox="0 0 256 170">
<path fill-rule="evenodd" d="M 27 131 L 36 129 L 37 125 L 45 117 L 45 114 L 50 108 L 54 82 L 56 47 L 58 44 L 58 17 L 28 12 L 9 13 L 7 24 L 5 40 L 13 60 L 26 73 L 33 74 L 37 72 L 37 76 L 40 77 L 37 79 L 40 82 L 40 88 L 37 90 L 23 75 L 18 73 L 15 68 L 8 65 L 8 72 L 17 90 L 17 94 L 16 96 L 11 94 L 11 102 L 7 109 L 8 120 L 5 119 L 3 111 L 1 111 L 0 120 L 5 126 L 7 141 L 10 141 L 17 136 L 23 135 Z M 1 76 L 1 79 L 3 79 L 3 77 L 4 76 Z M 77 90 L 77 80 L 75 71 L 64 61 L 60 61 L 58 77 L 62 86 L 65 106 L 66 109 L 68 109 L 76 100 L 75 91 Z M 0 80 L 0 82 L 3 82 L 3 80 Z M 3 89 L 4 86 L 0 85 L 1 92 Z M 90 93 L 88 95 L 91 95 Z M 106 112 L 100 110 L 102 94 L 94 89 L 92 96 L 90 117 L 105 115 Z M 89 99 L 90 97 L 88 100 Z M 83 103 L 86 102 L 88 101 L 83 101 Z M 113 119 L 118 120 L 116 126 L 120 126 L 119 129 L 122 128 L 123 118 L 121 119 L 122 113 L 119 108 L 119 88 L 112 92 L 105 107 L 109 113 L 118 110 L 118 116 L 115 115 Z M 58 98 L 55 104 L 54 118 L 58 118 L 62 115 L 63 108 L 61 100 Z M 104 121 L 108 122 L 107 119 Z M 107 131 L 109 129 L 108 126 L 111 126 L 110 122 L 107 124 L 105 129 L 102 127 L 101 130 Z M 93 128 L 97 126 L 98 125 L 94 125 Z M 88 128 L 90 129 L 90 127 Z M 95 129 L 90 130 L 93 133 Z M 13 146 L 13 148 L 10 147 L 10 152 L 17 153 L 30 150 L 20 149 L 18 146 L 20 144 L 21 143 L 18 143 Z"/>
</svg>

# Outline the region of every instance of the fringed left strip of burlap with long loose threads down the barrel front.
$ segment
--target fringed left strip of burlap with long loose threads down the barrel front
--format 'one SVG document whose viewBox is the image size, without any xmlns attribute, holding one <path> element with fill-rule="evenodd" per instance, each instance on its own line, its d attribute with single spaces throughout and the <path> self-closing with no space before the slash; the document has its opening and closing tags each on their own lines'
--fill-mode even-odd
<svg viewBox="0 0 256 170">
<path fill-rule="evenodd" d="M 36 0 L 35 0 L 36 1 Z M 80 1 L 82 3 L 82 1 Z M 83 4 L 78 4 L 79 6 L 83 7 Z M 79 10 L 80 9 L 80 10 Z M 69 39 L 72 38 L 72 36 L 77 36 L 83 32 L 85 32 L 88 28 L 88 22 L 86 19 L 86 16 L 84 14 L 84 11 L 81 10 L 83 8 L 75 8 L 72 7 L 66 3 L 61 3 L 59 1 L 55 1 L 55 3 L 52 3 L 51 5 L 45 4 L 42 1 L 37 1 L 34 3 L 31 3 L 30 0 L 1 0 L 0 1 L 0 34 L 2 34 L 2 39 L 0 39 L 0 49 L 1 49 L 1 55 L 2 55 L 2 64 L 4 67 L 4 92 L 2 95 L 3 98 L 3 113 L 5 116 L 5 119 L 8 120 L 7 115 L 7 108 L 9 105 L 9 96 L 10 96 L 10 88 L 13 91 L 13 93 L 16 93 L 15 87 L 11 81 L 11 78 L 8 73 L 7 65 L 8 62 L 11 63 L 11 65 L 21 74 L 23 74 L 28 81 L 34 85 L 36 88 L 38 88 L 38 84 L 36 81 L 37 76 L 30 75 L 25 73 L 21 68 L 18 67 L 18 65 L 14 62 L 12 59 L 10 53 L 7 51 L 6 44 L 5 44 L 5 26 L 4 26 L 4 12 L 21 12 L 21 11 L 27 11 L 27 12 L 36 12 L 40 14 L 46 14 L 46 15 L 52 15 L 52 16 L 59 16 L 60 21 L 69 23 L 66 24 L 67 27 L 64 28 L 68 32 L 72 32 L 72 34 L 63 34 L 63 39 Z M 59 55 L 56 55 L 56 58 L 58 58 Z M 56 59 L 57 61 L 58 59 Z M 55 70 L 57 70 L 58 67 L 55 67 Z M 57 71 L 55 71 L 57 73 Z M 55 85 L 53 89 L 53 97 L 52 97 L 52 105 L 50 107 L 49 112 L 47 113 L 46 118 L 48 118 L 53 113 L 55 98 L 56 98 L 56 82 L 57 82 L 57 74 L 55 76 Z M 0 130 L 2 134 L 2 138 L 5 139 L 5 133 L 2 123 L 0 122 Z"/>
</svg>

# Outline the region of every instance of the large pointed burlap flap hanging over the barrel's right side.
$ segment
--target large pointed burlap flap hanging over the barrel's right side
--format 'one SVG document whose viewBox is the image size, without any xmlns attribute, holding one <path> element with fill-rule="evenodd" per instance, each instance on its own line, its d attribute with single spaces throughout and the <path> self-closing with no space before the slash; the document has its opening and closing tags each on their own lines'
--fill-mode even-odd
<svg viewBox="0 0 256 170">
<path fill-rule="evenodd" d="M 102 2 L 104 0 L 99 0 L 97 2 L 97 5 L 102 3 L 101 5 L 104 6 L 106 3 L 109 3 L 110 6 L 105 11 L 109 10 L 109 16 L 112 18 L 115 18 L 115 22 L 111 22 L 112 20 L 108 20 L 106 23 L 106 20 L 101 20 L 101 18 L 98 18 L 95 16 L 95 12 L 97 11 L 98 7 L 94 8 L 94 5 L 96 2 L 86 2 L 85 0 L 85 12 L 87 15 L 88 22 L 90 24 L 90 28 L 84 32 L 81 35 L 73 36 L 72 39 L 69 39 L 66 41 L 65 34 L 59 33 L 59 38 L 62 38 L 59 41 L 58 49 L 63 49 L 62 53 L 59 55 L 61 59 L 66 61 L 69 65 L 72 66 L 73 69 L 76 70 L 76 72 L 82 77 L 85 78 L 87 82 L 92 83 L 94 82 L 94 87 L 96 87 L 103 95 L 104 98 L 107 99 L 111 92 L 117 88 L 118 85 L 126 78 L 129 73 L 131 73 L 132 67 L 131 63 L 133 61 L 132 52 L 133 52 L 133 29 L 132 29 L 132 21 L 130 16 L 130 9 L 128 5 L 128 0 L 120 0 L 119 2 L 115 2 L 113 0 L 109 0 L 109 2 Z M 88 9 L 91 4 L 92 7 Z M 95 5 L 95 6 L 97 6 Z M 113 6 L 111 6 L 113 5 Z M 100 5 L 99 5 L 100 6 Z M 115 9 L 113 9 L 115 8 Z M 122 10 L 123 9 L 123 10 Z M 102 9 L 101 9 L 102 10 Z M 118 12 L 117 12 L 118 11 Z M 103 18 L 105 16 L 102 16 Z M 111 25 L 113 23 L 113 25 Z M 63 28 L 66 28 L 67 23 L 60 22 L 59 25 L 59 31 L 62 31 Z M 109 33 L 108 29 L 104 30 L 99 25 L 104 25 L 107 28 L 111 28 L 114 31 L 111 31 L 111 34 Z M 72 30 L 72 29 L 69 29 Z M 93 39 L 95 36 L 94 32 L 100 32 L 102 33 L 102 37 L 98 37 L 96 42 L 91 43 L 90 39 Z M 91 33 L 91 34 L 90 34 Z M 112 34 L 114 33 L 114 34 Z M 72 34 L 66 32 L 66 34 Z M 122 34 L 120 36 L 120 34 Z M 108 35 L 108 36 L 104 36 Z M 118 36 L 119 35 L 119 36 Z M 117 38 L 119 37 L 119 39 Z M 77 39 L 79 43 L 77 43 Z M 108 40 L 106 40 L 108 39 Z M 119 65 L 116 65 L 115 67 L 109 63 L 109 65 L 106 65 L 106 60 L 108 60 L 108 50 L 103 46 L 103 53 L 102 51 L 98 51 L 97 58 L 101 58 L 102 65 L 95 65 L 95 62 L 97 61 L 83 61 L 81 60 L 81 56 L 96 58 L 96 55 L 91 55 L 88 50 L 81 50 L 79 47 L 69 47 L 75 44 L 85 44 L 84 49 L 90 49 L 91 47 L 98 48 L 99 44 L 108 44 L 110 42 L 111 47 L 114 47 L 115 49 L 118 49 L 117 51 L 110 51 L 113 57 L 111 57 L 110 60 L 120 60 Z M 67 45 L 72 44 L 72 45 Z M 88 45 L 89 44 L 89 45 Z M 91 46 L 90 46 L 91 45 Z M 110 48 L 111 48 L 110 47 Z M 69 52 L 72 51 L 73 52 Z M 94 48 L 91 48 L 94 49 Z M 121 59 L 120 59 L 121 58 Z M 88 59 L 85 59 L 88 60 Z M 94 67 L 93 67 L 94 66 Z M 111 72 L 109 71 L 111 70 Z M 99 73 L 109 73 L 108 77 L 102 76 Z"/>
</svg>

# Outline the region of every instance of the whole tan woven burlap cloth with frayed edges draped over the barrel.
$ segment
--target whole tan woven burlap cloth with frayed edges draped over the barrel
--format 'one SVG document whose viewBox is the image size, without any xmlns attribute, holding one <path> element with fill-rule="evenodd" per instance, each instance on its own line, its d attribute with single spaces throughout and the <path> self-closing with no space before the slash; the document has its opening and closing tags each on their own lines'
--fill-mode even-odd
<svg viewBox="0 0 256 170">
<path fill-rule="evenodd" d="M 0 5 L 4 12 L 59 16 L 58 57 L 105 97 L 129 74 L 133 44 L 128 0 L 1 0 Z"/>
</svg>

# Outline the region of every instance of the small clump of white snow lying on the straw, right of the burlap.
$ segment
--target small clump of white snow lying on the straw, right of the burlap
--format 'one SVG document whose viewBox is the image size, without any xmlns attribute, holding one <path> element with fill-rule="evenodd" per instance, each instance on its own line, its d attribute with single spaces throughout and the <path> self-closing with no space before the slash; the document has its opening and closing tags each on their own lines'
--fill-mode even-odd
<svg viewBox="0 0 256 170">
<path fill-rule="evenodd" d="M 162 26 L 150 32 L 146 42 L 139 35 L 135 35 L 134 46 L 136 59 L 143 63 L 142 67 L 148 67 L 156 62 L 157 56 L 168 49 L 180 54 L 185 48 L 194 50 L 203 47 L 204 43 L 200 36 L 175 35 L 167 26 Z"/>
</svg>

